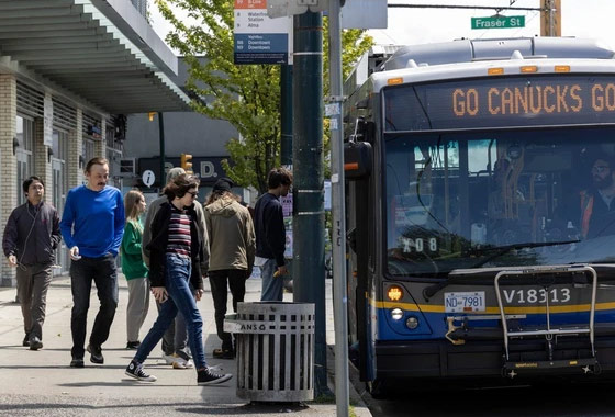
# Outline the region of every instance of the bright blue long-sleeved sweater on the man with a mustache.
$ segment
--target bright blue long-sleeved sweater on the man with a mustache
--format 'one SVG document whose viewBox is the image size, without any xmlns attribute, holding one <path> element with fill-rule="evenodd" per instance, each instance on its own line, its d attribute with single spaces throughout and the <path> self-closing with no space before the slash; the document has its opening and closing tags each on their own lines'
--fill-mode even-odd
<svg viewBox="0 0 615 417">
<path fill-rule="evenodd" d="M 118 255 L 124 234 L 124 203 L 120 190 L 105 185 L 92 191 L 79 185 L 68 192 L 59 228 L 66 246 L 79 255 L 100 258 Z"/>
</svg>

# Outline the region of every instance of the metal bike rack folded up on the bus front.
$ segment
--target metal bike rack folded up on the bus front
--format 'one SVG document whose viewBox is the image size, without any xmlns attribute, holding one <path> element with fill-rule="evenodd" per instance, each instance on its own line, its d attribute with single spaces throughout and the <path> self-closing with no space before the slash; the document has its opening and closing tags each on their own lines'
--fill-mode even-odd
<svg viewBox="0 0 615 417">
<path fill-rule="evenodd" d="M 590 323 L 588 327 L 552 327 L 551 326 L 551 317 L 550 317 L 550 306 L 549 306 L 549 296 L 547 295 L 545 301 L 546 307 L 546 320 L 547 327 L 541 329 L 532 329 L 532 330 L 510 330 L 508 324 L 506 322 L 506 315 L 504 313 L 504 303 L 502 302 L 502 294 L 500 293 L 500 279 L 502 277 L 523 277 L 523 275 L 536 275 L 536 274 L 546 274 L 546 273 L 590 273 L 592 275 L 592 298 L 590 304 Z M 595 314 L 595 301 L 596 301 L 596 289 L 597 289 L 597 274 L 595 269 L 589 266 L 563 266 L 563 267 L 528 267 L 521 270 L 504 270 L 499 272 L 495 275 L 494 280 L 494 288 L 495 288 L 495 295 L 497 297 L 497 306 L 500 307 L 500 316 L 502 320 L 502 330 L 504 333 L 504 348 L 506 351 L 506 365 L 513 365 L 513 372 L 511 372 L 510 376 L 513 377 L 515 375 L 514 369 L 534 369 L 534 368 L 563 368 L 563 367 L 590 367 L 596 364 L 595 360 L 595 350 L 594 350 L 594 314 Z M 590 345 L 591 345 L 591 352 L 592 358 L 588 359 L 578 359 L 578 360 L 552 360 L 549 358 L 549 361 L 532 361 L 532 362 L 518 362 L 518 363 L 508 363 L 510 360 L 510 351 L 508 345 L 510 339 L 512 338 L 523 338 L 525 336 L 545 336 L 547 341 L 549 342 L 549 347 L 551 347 L 551 340 L 554 336 L 564 336 L 564 335 L 581 335 L 588 334 L 590 337 Z M 585 368 L 585 372 L 589 372 L 589 368 Z"/>
</svg>

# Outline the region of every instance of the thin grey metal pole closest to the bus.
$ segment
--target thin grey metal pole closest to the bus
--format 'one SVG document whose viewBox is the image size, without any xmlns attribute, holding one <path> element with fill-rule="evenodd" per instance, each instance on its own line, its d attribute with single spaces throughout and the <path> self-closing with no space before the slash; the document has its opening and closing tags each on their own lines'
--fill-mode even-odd
<svg viewBox="0 0 615 417">
<path fill-rule="evenodd" d="M 328 2 L 331 98 L 331 183 L 333 208 L 333 313 L 335 325 L 335 403 L 337 416 L 348 416 L 348 297 L 346 295 L 346 207 L 344 196 L 344 127 L 342 122 L 342 33 L 339 0 Z"/>
</svg>

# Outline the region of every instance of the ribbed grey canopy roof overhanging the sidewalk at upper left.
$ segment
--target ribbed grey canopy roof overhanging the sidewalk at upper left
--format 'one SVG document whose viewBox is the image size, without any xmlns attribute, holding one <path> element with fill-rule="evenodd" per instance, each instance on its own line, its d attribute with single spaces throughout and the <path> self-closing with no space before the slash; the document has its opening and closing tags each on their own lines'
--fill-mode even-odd
<svg viewBox="0 0 615 417">
<path fill-rule="evenodd" d="M 177 57 L 127 0 L 0 0 L 0 72 L 119 113 L 189 110 Z"/>
</svg>

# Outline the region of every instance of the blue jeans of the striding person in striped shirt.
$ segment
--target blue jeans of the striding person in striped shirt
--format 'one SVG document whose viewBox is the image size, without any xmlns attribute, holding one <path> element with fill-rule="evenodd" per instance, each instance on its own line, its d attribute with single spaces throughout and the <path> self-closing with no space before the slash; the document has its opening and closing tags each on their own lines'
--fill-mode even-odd
<svg viewBox="0 0 615 417">
<path fill-rule="evenodd" d="M 165 283 L 169 297 L 160 306 L 158 318 L 143 339 L 134 360 L 143 363 L 152 350 L 158 345 L 167 328 L 171 325 L 178 311 L 181 312 L 188 328 L 188 342 L 197 370 L 205 368 L 205 350 L 203 347 L 203 319 L 197 307 L 190 288 L 190 258 L 172 253 L 166 255 Z"/>
</svg>

